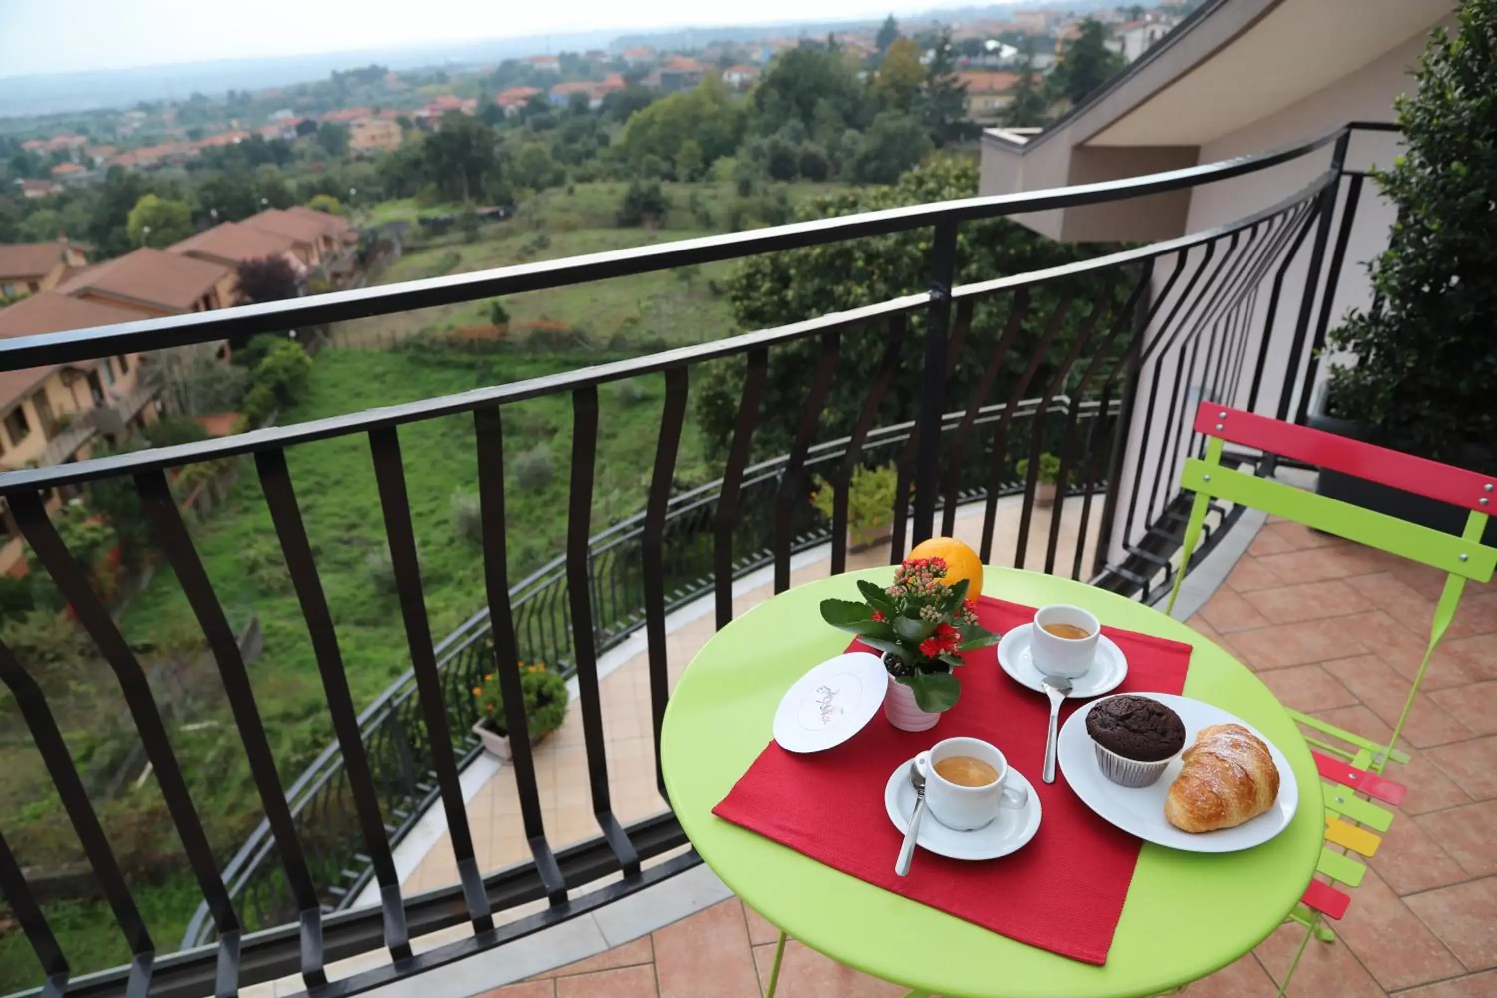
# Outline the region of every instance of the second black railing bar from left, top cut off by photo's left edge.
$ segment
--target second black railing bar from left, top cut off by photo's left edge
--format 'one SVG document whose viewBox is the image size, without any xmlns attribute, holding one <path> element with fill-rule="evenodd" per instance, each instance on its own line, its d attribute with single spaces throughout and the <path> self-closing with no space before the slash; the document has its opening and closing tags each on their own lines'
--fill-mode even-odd
<svg viewBox="0 0 1497 998">
<path fill-rule="evenodd" d="M 21 708 L 21 717 L 31 732 L 31 742 L 52 778 L 52 787 L 63 802 L 63 809 L 67 811 L 67 820 L 78 835 L 78 842 L 88 859 L 94 880 L 99 881 L 103 896 L 114 911 L 126 946 L 135 955 L 150 955 L 156 944 L 145 928 L 145 919 L 141 917 L 141 911 L 135 905 L 135 898 L 130 896 L 130 887 L 124 881 L 124 872 L 109 847 L 109 838 L 99 823 L 99 815 L 88 800 L 88 790 L 78 777 L 78 768 L 67 751 L 63 732 L 57 727 L 57 718 L 52 717 L 52 709 L 36 679 L 4 642 L 0 642 L 0 681 L 4 681 L 10 688 L 10 694 Z"/>
</svg>

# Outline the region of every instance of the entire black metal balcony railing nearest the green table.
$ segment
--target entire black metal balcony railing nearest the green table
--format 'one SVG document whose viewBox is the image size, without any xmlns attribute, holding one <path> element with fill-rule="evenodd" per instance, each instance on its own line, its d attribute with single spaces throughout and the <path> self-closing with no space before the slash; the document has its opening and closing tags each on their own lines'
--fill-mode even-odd
<svg viewBox="0 0 1497 998">
<path fill-rule="evenodd" d="M 844 570 L 847 563 L 852 471 L 865 461 L 882 461 L 880 449 L 895 455 L 898 470 L 894 558 L 937 528 L 949 533 L 958 504 L 981 497 L 984 561 L 1024 567 L 1030 534 L 1037 528 L 1040 458 L 1055 453 L 1060 458 L 1058 489 L 1043 545 L 1043 570 L 1093 578 L 1100 585 L 1147 599 L 1159 588 L 1160 576 L 1168 581 L 1172 572 L 1169 545 L 1178 543 L 1181 503 L 1175 474 L 1183 456 L 1198 446 L 1189 416 L 1193 399 L 1234 401 L 1275 414 L 1290 413 L 1296 405 L 1304 410 L 1308 379 L 1314 376 L 1314 353 L 1323 337 L 1325 310 L 1316 329 L 1311 329 L 1311 319 L 1317 293 L 1329 298 L 1322 262 L 1338 203 L 1347 139 L 1349 130 L 1340 130 L 1262 156 L 1126 181 L 919 205 L 222 313 L 0 341 L 0 368 L 13 370 L 307 328 L 870 235 L 910 229 L 933 232 L 927 292 L 564 374 L 0 476 L 0 495 L 10 504 L 37 567 L 61 590 L 124 694 L 181 842 L 183 859 L 204 901 L 204 938 L 210 934 L 214 938 L 211 944 L 181 953 L 157 955 L 159 947 L 78 778 L 46 697 L 27 664 L 0 645 L 0 679 L 19 703 L 31 741 L 42 753 L 82 851 L 133 953 L 124 967 L 73 979 L 18 857 L 0 839 L 0 887 L 40 959 L 45 983 L 37 991 L 198 998 L 208 992 L 232 995 L 241 986 L 299 973 L 308 991 L 319 992 L 328 988 L 325 965 L 329 961 L 383 947 L 392 962 L 356 973 L 335 986 L 340 994 L 356 994 L 575 917 L 689 866 L 695 862 L 690 853 L 653 866 L 647 863 L 686 844 L 669 812 L 627 827 L 614 814 L 599 654 L 615 634 L 636 627 L 642 615 L 659 781 L 660 723 L 669 696 L 666 612 L 701 593 L 710 579 L 722 627 L 732 618 L 735 576 L 754 564 L 772 566 L 775 591 L 787 588 L 792 554 L 819 542 L 805 503 L 813 468 L 825 468 L 834 488 L 829 527 L 834 572 Z M 1314 183 L 1229 224 L 1045 271 L 954 286 L 957 232 L 964 221 L 1180 190 L 1269 169 L 1328 148 L 1328 168 Z M 1307 242 L 1311 232 L 1314 239 Z M 1331 269 L 1334 275 L 1337 268 Z M 1290 271 L 1302 277 L 1299 299 L 1293 302 L 1281 293 Z M 787 374 L 799 377 L 792 444 L 783 458 L 768 465 L 751 464 L 771 358 L 798 344 L 814 347 L 814 361 Z M 900 395 L 895 389 L 907 388 L 895 383 L 901 352 L 916 349 L 919 386 L 903 392 L 906 399 L 913 399 L 910 411 L 897 411 L 897 425 L 879 431 L 877 423 L 889 422 L 886 399 Z M 856 386 L 862 391 L 862 402 L 849 431 L 838 434 L 846 438 L 817 441 L 840 356 L 853 352 L 880 361 L 873 376 Z M 743 382 L 722 477 L 710 497 L 681 495 L 672 501 L 690 374 L 707 362 L 729 358 L 741 364 Z M 644 513 L 633 525 L 620 525 L 612 536 L 605 534 L 594 543 L 590 521 L 599 437 L 597 389 L 641 374 L 663 374 L 666 386 L 654 467 L 641 497 Z M 952 398 L 948 391 L 952 385 L 967 386 L 967 398 Z M 528 591 L 537 596 L 525 599 L 527 590 L 516 593 L 510 587 L 506 561 L 504 411 L 516 402 L 552 395 L 569 397 L 573 411 L 566 552 L 543 578 L 545 585 L 531 582 L 534 588 Z M 439 660 L 424 609 L 400 431 L 413 422 L 452 414 L 472 414 L 473 419 L 485 573 L 482 596 L 487 596 L 488 616 L 484 628 L 446 645 Z M 413 690 L 403 688 L 362 714 L 353 703 L 317 552 L 308 542 L 286 461 L 287 447 L 355 434 L 365 435 L 370 446 Z M 244 661 L 165 477 L 169 467 L 241 453 L 254 455 L 337 736 L 338 765 L 298 781 L 290 792 L 283 790 Z M 1016 462 L 1025 458 L 1027 474 L 1018 477 Z M 1238 455 L 1238 459 L 1254 461 L 1251 455 Z M 184 760 L 172 750 L 135 649 L 91 590 L 43 504 L 51 489 L 114 476 L 133 479 L 162 558 L 183 584 L 217 661 L 235 730 L 265 809 L 266 833 L 259 848 L 265 850 L 263 856 L 274 856 L 283 887 L 246 892 L 249 878 L 259 875 L 250 865 L 243 866 L 241 877 L 226 881 L 189 793 Z M 996 549 L 998 498 L 1006 491 L 1022 495 L 1012 558 Z M 757 494 L 766 498 L 751 498 Z M 1081 542 L 1073 545 L 1069 564 L 1061 561 L 1066 552 L 1060 543 L 1060 521 L 1069 503 L 1081 504 L 1079 537 L 1096 531 L 1097 554 L 1091 566 L 1084 564 L 1085 545 Z M 1232 510 L 1216 512 L 1213 542 L 1231 516 Z M 681 545 L 690 555 L 680 561 L 672 560 L 675 548 L 668 543 L 675 531 L 695 542 Z M 708 537 L 710 542 L 704 542 Z M 614 560 L 614 567 L 600 566 L 600 557 Z M 617 581 L 624 581 L 623 596 L 600 585 Z M 536 610 L 527 610 L 531 606 Z M 552 622 L 548 637 L 537 637 L 531 628 L 533 612 L 537 619 Z M 458 784 L 466 745 L 464 715 L 451 708 L 448 690 L 463 666 L 452 663 L 460 663 L 464 654 L 488 660 L 503 684 L 509 729 L 524 730 L 518 661 L 536 640 L 552 642 L 557 660 L 564 660 L 575 672 L 588 795 L 599 833 L 573 847 L 552 850 L 531 748 L 525 739 L 515 739 L 515 786 L 531 859 L 500 871 L 481 871 Z M 466 651 L 475 648 L 479 651 Z M 419 753 L 412 753 L 412 747 Z M 322 795 L 319 787 L 332 783 L 337 790 Z M 458 881 L 406 896 L 391 847 L 391 835 L 398 833 L 400 826 L 389 818 L 400 817 L 404 809 L 406 817 L 400 820 L 410 821 L 425 803 L 443 808 Z M 0 826 L 6 820 L 0 817 Z M 371 872 L 361 877 L 377 886 L 379 904 L 329 911 L 338 904 L 335 892 L 353 886 L 343 883 L 341 874 L 332 869 L 338 866 L 340 844 L 346 842 L 358 842 L 358 851 L 367 857 Z M 579 890 L 618 872 L 623 878 L 606 887 Z M 289 904 L 283 898 L 289 898 Z M 496 928 L 496 911 L 537 899 L 549 899 L 551 907 Z M 260 928 L 266 922 L 278 925 Z M 473 926 L 472 937 L 412 953 L 412 938 L 464 922 Z"/>
</svg>

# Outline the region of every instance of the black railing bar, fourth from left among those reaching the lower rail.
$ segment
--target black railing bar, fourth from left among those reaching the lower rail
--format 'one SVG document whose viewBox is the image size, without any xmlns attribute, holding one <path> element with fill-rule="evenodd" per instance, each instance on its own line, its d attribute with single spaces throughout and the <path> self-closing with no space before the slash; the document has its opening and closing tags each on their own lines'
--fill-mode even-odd
<svg viewBox="0 0 1497 998">
<path fill-rule="evenodd" d="M 442 676 L 437 673 L 437 657 L 433 651 L 431 624 L 427 619 L 427 600 L 421 587 L 416 534 L 410 524 L 410 498 L 406 494 L 406 468 L 400 456 L 400 431 L 395 426 L 379 426 L 370 429 L 368 437 L 370 456 L 374 462 L 374 485 L 379 491 L 385 536 L 389 543 L 389 561 L 395 576 L 395 596 L 400 600 L 400 616 L 406 627 L 406 646 L 410 652 L 410 670 L 416 678 L 416 700 L 427 726 L 431 765 L 437 771 L 442 812 L 448 818 L 448 839 L 457 860 L 469 920 L 473 923 L 475 932 L 487 932 L 494 928 L 494 919 L 488 910 L 488 895 L 484 890 L 484 878 L 479 875 L 478 859 L 473 854 L 473 830 L 469 827 L 467 806 L 463 803 L 458 760 L 452 751 L 452 729 L 448 724 Z M 525 738 L 528 732 L 521 729 L 513 735 Z"/>
</svg>

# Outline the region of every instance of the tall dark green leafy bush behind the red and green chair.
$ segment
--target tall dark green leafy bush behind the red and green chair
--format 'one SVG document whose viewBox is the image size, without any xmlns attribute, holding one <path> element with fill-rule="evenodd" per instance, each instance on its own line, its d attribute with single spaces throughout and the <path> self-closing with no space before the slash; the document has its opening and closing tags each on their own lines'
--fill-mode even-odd
<svg viewBox="0 0 1497 998">
<path fill-rule="evenodd" d="M 1397 105 L 1404 153 L 1374 174 L 1398 221 L 1371 263 L 1373 307 L 1331 334 L 1356 355 L 1331 398 L 1389 446 L 1470 464 L 1479 444 L 1497 470 L 1497 0 L 1463 4 L 1455 37 L 1436 30 L 1416 78 Z"/>
</svg>

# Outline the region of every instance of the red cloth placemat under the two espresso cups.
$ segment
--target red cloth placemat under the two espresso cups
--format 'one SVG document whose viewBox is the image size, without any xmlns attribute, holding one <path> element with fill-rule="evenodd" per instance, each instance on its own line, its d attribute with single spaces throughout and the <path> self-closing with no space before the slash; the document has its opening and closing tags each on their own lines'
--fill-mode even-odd
<svg viewBox="0 0 1497 998">
<path fill-rule="evenodd" d="M 1034 610 L 982 597 L 978 619 L 1007 633 Z M 1180 693 L 1190 645 L 1103 627 L 1127 655 L 1117 693 Z M 853 642 L 856 645 L 856 642 Z M 858 735 L 825 753 L 796 756 L 777 742 L 713 808 L 717 817 L 789 845 L 834 869 L 1030 946 L 1105 964 L 1141 841 L 1091 812 L 1066 786 L 1040 781 L 1049 702 L 998 666 L 997 649 L 966 655 L 961 699 L 928 732 L 901 732 L 880 711 Z M 1061 724 L 1082 702 L 1061 706 Z M 915 854 L 909 877 L 894 875 L 900 833 L 883 809 L 895 766 L 943 738 L 982 738 L 1028 777 L 1043 820 L 1019 851 L 982 863 Z M 853 832 L 856 830 L 856 832 Z"/>
</svg>

